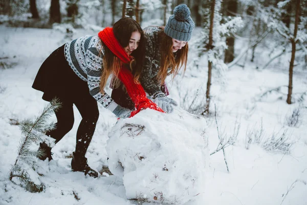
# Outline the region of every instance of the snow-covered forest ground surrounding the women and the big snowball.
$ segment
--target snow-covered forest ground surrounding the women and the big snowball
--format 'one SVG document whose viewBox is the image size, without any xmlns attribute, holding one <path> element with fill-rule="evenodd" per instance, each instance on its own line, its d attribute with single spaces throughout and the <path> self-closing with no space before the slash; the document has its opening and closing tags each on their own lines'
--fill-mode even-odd
<svg viewBox="0 0 307 205">
<path fill-rule="evenodd" d="M 95 33 L 77 30 L 74 37 Z M 49 164 L 47 160 L 38 162 L 45 169 L 42 180 L 46 189 L 31 193 L 8 179 L 21 138 L 16 122 L 34 119 L 47 105 L 41 99 L 42 93 L 31 86 L 43 60 L 65 42 L 63 37 L 63 33 L 50 29 L 0 27 L 0 62 L 6 67 L 0 69 L 0 204 L 134 204 L 126 199 L 120 177 L 100 175 L 94 179 L 70 170 L 80 122 L 77 109 L 73 129 L 52 150 L 54 160 Z M 236 48 L 241 47 L 244 43 L 237 43 Z M 190 59 L 193 56 L 195 53 L 190 53 Z M 219 143 L 216 121 L 220 137 L 236 137 L 235 143 L 225 149 L 229 172 L 223 151 L 210 155 L 206 162 L 205 191 L 186 204 L 307 204 L 307 100 L 305 95 L 300 99 L 306 92 L 307 73 L 294 74 L 296 103 L 288 105 L 288 73 L 281 70 L 289 67 L 289 56 L 279 64 L 272 63 L 282 69 L 255 69 L 269 60 L 265 49 L 256 49 L 256 59 L 253 64 L 247 61 L 244 69 L 231 67 L 223 79 L 212 78 L 210 111 L 214 114 L 215 105 L 216 120 L 213 115 L 203 125 L 209 152 L 214 152 Z M 177 76 L 172 86 L 169 84 L 170 96 L 186 109 L 196 90 L 199 89 L 198 100 L 203 99 L 206 60 L 202 63 L 199 69 L 191 68 L 183 78 Z M 273 90 L 278 87 L 279 90 Z M 86 157 L 93 169 L 101 171 L 107 166 L 106 142 L 117 118 L 102 106 L 99 110 Z M 298 123 L 290 127 L 288 121 L 297 110 Z"/>
</svg>

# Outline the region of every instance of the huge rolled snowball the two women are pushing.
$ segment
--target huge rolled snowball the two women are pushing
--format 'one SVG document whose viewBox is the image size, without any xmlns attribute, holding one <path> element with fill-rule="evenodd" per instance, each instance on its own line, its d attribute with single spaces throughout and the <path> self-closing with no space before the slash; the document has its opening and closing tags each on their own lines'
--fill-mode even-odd
<svg viewBox="0 0 307 205">
<path fill-rule="evenodd" d="M 146 109 L 109 133 L 109 170 L 123 177 L 128 199 L 183 204 L 204 190 L 206 122 L 184 110 Z"/>
</svg>

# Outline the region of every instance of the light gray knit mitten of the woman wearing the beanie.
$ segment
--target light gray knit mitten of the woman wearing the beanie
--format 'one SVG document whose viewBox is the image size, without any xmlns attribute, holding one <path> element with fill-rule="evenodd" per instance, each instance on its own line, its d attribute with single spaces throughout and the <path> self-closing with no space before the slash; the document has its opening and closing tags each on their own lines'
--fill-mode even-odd
<svg viewBox="0 0 307 205">
<path fill-rule="evenodd" d="M 166 97 L 163 92 L 156 92 L 149 98 L 166 113 L 171 113 L 173 111 L 172 105 L 178 105 L 175 100 Z"/>
</svg>

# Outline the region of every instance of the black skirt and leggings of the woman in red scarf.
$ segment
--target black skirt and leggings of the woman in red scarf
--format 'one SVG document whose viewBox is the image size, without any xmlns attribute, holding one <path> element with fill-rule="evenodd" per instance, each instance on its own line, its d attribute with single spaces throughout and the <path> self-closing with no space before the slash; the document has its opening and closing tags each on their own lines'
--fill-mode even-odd
<svg viewBox="0 0 307 205">
<path fill-rule="evenodd" d="M 64 46 L 56 49 L 41 65 L 35 77 L 34 89 L 43 92 L 42 98 L 51 101 L 57 97 L 62 106 L 55 112 L 57 122 L 54 130 L 46 135 L 59 142 L 74 125 L 73 105 L 77 107 L 82 120 L 78 127 L 75 155 L 84 157 L 92 140 L 99 111 L 97 101 L 87 86 L 69 66 L 64 56 Z"/>
</svg>

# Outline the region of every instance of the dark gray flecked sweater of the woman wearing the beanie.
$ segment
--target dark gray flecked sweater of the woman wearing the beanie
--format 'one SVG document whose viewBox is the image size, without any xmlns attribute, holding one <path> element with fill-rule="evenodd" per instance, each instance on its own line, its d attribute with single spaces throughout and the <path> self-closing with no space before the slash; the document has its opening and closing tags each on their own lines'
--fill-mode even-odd
<svg viewBox="0 0 307 205">
<path fill-rule="evenodd" d="M 149 26 L 143 29 L 146 39 L 145 64 L 142 68 L 140 81 L 144 90 L 153 95 L 161 91 L 161 82 L 156 79 L 161 67 L 161 40 L 158 34 L 163 29 L 157 26 Z M 176 56 L 176 53 L 174 53 Z"/>
</svg>

